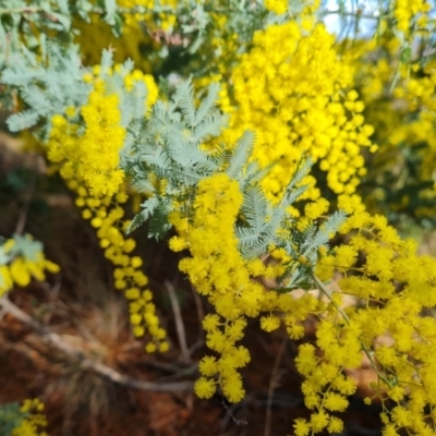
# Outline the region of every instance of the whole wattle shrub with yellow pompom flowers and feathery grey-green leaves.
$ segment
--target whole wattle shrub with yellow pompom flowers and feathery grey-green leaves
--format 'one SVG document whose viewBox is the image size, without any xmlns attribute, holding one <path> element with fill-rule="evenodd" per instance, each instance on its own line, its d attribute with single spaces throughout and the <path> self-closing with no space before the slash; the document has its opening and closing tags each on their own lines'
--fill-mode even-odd
<svg viewBox="0 0 436 436">
<path fill-rule="evenodd" d="M 434 434 L 436 320 L 427 310 L 436 305 L 436 263 L 383 215 L 366 211 L 376 207 L 360 187 L 373 177 L 372 154 L 425 142 L 419 180 L 428 183 L 416 195 L 433 198 L 434 61 L 410 60 L 414 38 L 431 44 L 432 4 L 393 1 L 373 13 L 377 46 L 337 43 L 317 1 L 19 3 L 0 2 L 9 128 L 32 129 L 74 192 L 145 350 L 169 348 L 142 259 L 132 255 L 132 232 L 147 221 L 149 237 L 182 252 L 180 271 L 215 311 L 203 320 L 211 354 L 198 365 L 198 397 L 219 388 L 230 402 L 244 398 L 241 368 L 251 355 L 239 341 L 250 318 L 299 340 L 311 315 L 316 340 L 300 344 L 295 364 L 312 415 L 295 420 L 295 435 L 342 431 L 337 412 L 356 389 L 347 373 L 363 355 L 377 374 L 365 402 L 383 403 L 383 434 Z M 82 53 L 94 62 L 96 52 L 81 20 L 121 34 L 116 47 L 129 48 L 147 71 L 114 61 L 113 47 L 98 65 L 83 61 Z M 141 44 L 153 49 L 146 61 Z M 384 45 L 400 50 L 397 70 L 382 55 L 362 66 L 358 58 Z M 183 63 L 174 47 L 184 50 Z M 174 59 L 180 69 L 165 74 Z M 391 105 L 380 114 L 373 100 L 388 89 Z M 390 114 L 397 124 L 384 129 Z M 121 205 L 133 193 L 143 203 L 129 220 Z M 56 269 L 41 257 L 32 267 L 19 259 L 0 269 L 4 290 L 10 277 L 25 284 L 27 276 L 13 270 L 38 278 L 41 268 Z M 346 295 L 356 304 L 343 308 Z"/>
</svg>

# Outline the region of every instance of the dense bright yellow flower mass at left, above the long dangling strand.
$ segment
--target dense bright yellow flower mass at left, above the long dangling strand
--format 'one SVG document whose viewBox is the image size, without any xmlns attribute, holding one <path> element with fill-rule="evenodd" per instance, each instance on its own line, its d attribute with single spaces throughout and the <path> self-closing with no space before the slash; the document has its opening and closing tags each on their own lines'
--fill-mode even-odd
<svg viewBox="0 0 436 436">
<path fill-rule="evenodd" d="M 104 80 L 104 76 L 112 74 L 122 74 L 121 65 L 106 71 L 100 71 L 100 66 L 96 65 L 93 73 L 84 74 L 84 82 L 92 83 L 94 89 L 87 104 L 80 110 L 85 128 L 83 134 L 76 123 L 69 122 L 77 117 L 75 108 L 66 109 L 66 118 L 58 114 L 51 120 L 49 160 L 62 162 L 62 177 L 82 180 L 95 197 L 112 196 L 124 179 L 124 173 L 119 168 L 120 150 L 125 136 L 125 128 L 121 124 L 120 99 L 118 94 L 106 90 Z M 145 114 L 147 108 L 157 99 L 157 86 L 153 77 L 134 70 L 123 74 L 123 82 L 126 93 L 132 92 L 135 82 L 145 84 L 148 92 Z M 63 136 L 65 129 L 69 131 L 70 141 L 63 144 L 56 135 Z"/>
</svg>

